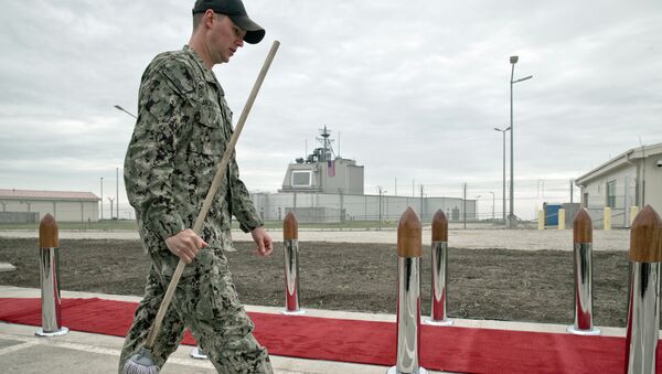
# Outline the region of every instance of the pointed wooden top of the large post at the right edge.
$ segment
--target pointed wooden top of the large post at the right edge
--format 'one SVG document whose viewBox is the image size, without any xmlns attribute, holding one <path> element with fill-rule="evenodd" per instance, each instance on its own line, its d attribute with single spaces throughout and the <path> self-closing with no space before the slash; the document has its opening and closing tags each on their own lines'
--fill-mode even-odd
<svg viewBox="0 0 662 374">
<path fill-rule="evenodd" d="M 636 263 L 662 261 L 662 221 L 651 205 L 647 205 L 630 227 L 630 260 Z"/>
</svg>

